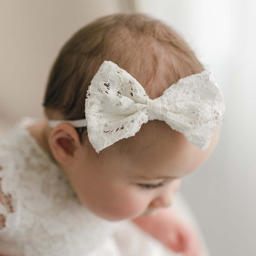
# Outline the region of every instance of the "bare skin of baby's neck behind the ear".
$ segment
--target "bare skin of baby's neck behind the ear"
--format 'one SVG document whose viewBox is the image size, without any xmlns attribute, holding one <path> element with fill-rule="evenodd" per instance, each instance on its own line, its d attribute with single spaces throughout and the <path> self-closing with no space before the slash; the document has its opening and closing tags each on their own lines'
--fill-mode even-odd
<svg viewBox="0 0 256 256">
<path fill-rule="evenodd" d="M 47 125 L 45 120 L 33 124 L 31 126 L 26 127 L 26 129 L 30 132 L 31 136 L 35 138 L 38 144 L 42 147 L 42 149 L 49 154 L 50 158 L 56 162 L 53 157 L 52 151 L 49 147 L 48 138 L 50 134 L 50 128 Z"/>
</svg>

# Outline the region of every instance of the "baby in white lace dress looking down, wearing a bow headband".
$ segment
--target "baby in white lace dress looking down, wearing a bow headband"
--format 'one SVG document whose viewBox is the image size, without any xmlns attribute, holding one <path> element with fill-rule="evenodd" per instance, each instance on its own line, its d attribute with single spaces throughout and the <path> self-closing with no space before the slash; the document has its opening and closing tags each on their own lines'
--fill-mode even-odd
<svg viewBox="0 0 256 256">
<path fill-rule="evenodd" d="M 123 75 L 114 81 L 116 84 L 104 80 L 111 65 Z M 0 139 L 0 253 L 117 256 L 112 234 L 123 221 L 133 221 L 173 251 L 199 256 L 193 231 L 169 206 L 181 178 L 212 154 L 220 130 L 207 135 L 211 139 L 207 149 L 199 149 L 177 131 L 175 123 L 173 127 L 168 124 L 169 117 L 165 121 L 164 113 L 159 116 L 161 110 L 156 108 L 160 105 L 152 103 L 152 110 L 145 110 L 150 115 L 146 119 L 140 110 L 142 103 L 137 102 L 141 88 L 131 85 L 133 101 L 121 99 L 126 90 L 123 87 L 118 91 L 119 105 L 137 104 L 137 120 L 144 118 L 141 124 L 145 124 L 129 136 L 126 127 L 120 126 L 112 132 L 124 129 L 123 137 L 104 142 L 105 146 L 96 150 L 100 134 L 93 134 L 111 111 L 104 112 L 107 103 L 100 110 L 94 109 L 97 103 L 103 104 L 97 99 L 93 103 L 93 91 L 100 90 L 88 87 L 97 84 L 92 80 L 95 74 L 100 74 L 98 79 L 109 92 L 111 86 L 123 82 L 124 86 L 128 77 L 127 81 L 136 84 L 137 80 L 146 95 L 156 99 L 179 79 L 203 71 L 181 36 L 147 14 L 109 15 L 76 32 L 62 47 L 49 75 L 43 104 L 45 120 L 13 128 Z M 159 119 L 152 117 L 154 110 Z M 118 118 L 128 118 L 121 108 L 117 111 Z M 133 115 L 135 110 L 130 112 Z M 176 114 L 181 116 L 181 109 Z M 218 119 L 222 113 L 215 110 L 215 115 Z M 114 123 L 111 118 L 106 125 Z M 137 122 L 132 119 L 127 124 Z M 85 120 L 86 125 L 81 123 Z"/>
</svg>

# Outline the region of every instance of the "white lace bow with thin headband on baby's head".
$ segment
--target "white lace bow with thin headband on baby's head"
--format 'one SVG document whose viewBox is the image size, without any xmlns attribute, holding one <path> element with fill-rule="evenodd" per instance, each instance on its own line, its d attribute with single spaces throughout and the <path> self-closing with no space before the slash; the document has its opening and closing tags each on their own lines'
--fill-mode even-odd
<svg viewBox="0 0 256 256">
<path fill-rule="evenodd" d="M 212 71 L 179 79 L 163 95 L 150 99 L 144 88 L 115 63 L 104 61 L 88 87 L 85 119 L 51 120 L 87 126 L 97 153 L 123 138 L 134 136 L 143 123 L 163 120 L 200 150 L 206 150 L 221 128 L 225 100 Z"/>
</svg>

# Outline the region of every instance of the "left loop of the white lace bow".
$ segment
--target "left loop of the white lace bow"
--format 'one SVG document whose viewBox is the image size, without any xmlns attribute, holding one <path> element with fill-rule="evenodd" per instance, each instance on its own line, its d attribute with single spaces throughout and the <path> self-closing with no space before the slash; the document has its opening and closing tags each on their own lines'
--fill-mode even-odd
<svg viewBox="0 0 256 256">
<path fill-rule="evenodd" d="M 88 138 L 95 150 L 134 136 L 149 119 L 147 100 L 136 79 L 115 63 L 104 61 L 85 99 Z"/>
</svg>

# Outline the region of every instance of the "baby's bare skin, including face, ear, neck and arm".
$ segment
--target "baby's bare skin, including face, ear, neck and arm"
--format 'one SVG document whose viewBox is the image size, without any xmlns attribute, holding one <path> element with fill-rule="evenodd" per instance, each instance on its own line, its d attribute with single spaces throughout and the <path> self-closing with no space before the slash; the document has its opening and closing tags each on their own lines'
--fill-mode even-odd
<svg viewBox="0 0 256 256">
<path fill-rule="evenodd" d="M 212 154 L 219 131 L 201 151 L 182 133 L 154 120 L 141 126 L 131 152 L 119 153 L 117 141 L 97 154 L 88 139 L 81 144 L 71 124 L 50 128 L 42 121 L 27 129 L 58 163 L 88 210 L 110 221 L 134 221 L 174 252 L 200 256 L 199 239 L 170 206 L 181 178 Z"/>
</svg>

